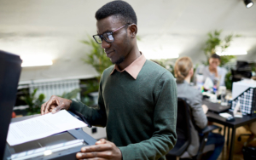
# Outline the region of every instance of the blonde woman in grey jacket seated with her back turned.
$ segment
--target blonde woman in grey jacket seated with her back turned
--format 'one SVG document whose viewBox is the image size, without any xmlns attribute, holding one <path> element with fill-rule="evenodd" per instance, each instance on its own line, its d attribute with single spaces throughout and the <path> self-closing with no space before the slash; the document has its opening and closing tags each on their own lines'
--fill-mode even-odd
<svg viewBox="0 0 256 160">
<path fill-rule="evenodd" d="M 190 121 L 191 126 L 191 143 L 186 151 L 187 157 L 194 157 L 199 149 L 199 134 L 196 127 L 204 129 L 207 127 L 207 106 L 201 105 L 202 94 L 199 90 L 194 89 L 189 85 L 191 77 L 193 76 L 193 64 L 189 57 L 182 57 L 178 59 L 174 66 L 174 74 L 177 78 L 177 97 L 182 97 L 188 100 L 191 107 L 192 117 L 195 121 L 194 126 Z M 205 111 L 204 111 L 205 110 Z M 178 136 L 178 135 L 177 135 Z M 210 133 L 205 148 L 208 145 L 215 145 L 215 149 L 209 159 L 217 159 L 224 146 L 224 137 L 220 134 Z M 183 155 L 182 157 L 186 157 Z"/>
</svg>

